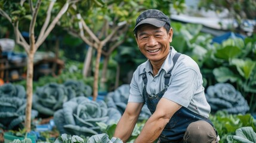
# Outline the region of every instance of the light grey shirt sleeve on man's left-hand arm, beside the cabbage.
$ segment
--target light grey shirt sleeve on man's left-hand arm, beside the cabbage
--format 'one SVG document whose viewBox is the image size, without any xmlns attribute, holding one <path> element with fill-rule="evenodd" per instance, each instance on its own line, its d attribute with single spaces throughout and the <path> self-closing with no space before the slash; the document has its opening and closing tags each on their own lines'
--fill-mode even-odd
<svg viewBox="0 0 256 143">
<path fill-rule="evenodd" d="M 143 96 L 141 95 L 140 88 L 138 85 L 138 78 L 140 76 L 137 72 L 134 72 L 130 84 L 128 102 L 144 102 Z"/>
</svg>

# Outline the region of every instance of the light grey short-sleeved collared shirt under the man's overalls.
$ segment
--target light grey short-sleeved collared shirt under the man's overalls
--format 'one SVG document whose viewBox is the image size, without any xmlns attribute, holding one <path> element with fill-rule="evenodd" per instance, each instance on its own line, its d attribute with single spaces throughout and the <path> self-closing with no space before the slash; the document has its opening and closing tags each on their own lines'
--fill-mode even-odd
<svg viewBox="0 0 256 143">
<path fill-rule="evenodd" d="M 142 75 L 145 71 L 147 93 L 153 95 L 165 88 L 164 74 L 172 69 L 169 86 L 163 98 L 174 101 L 203 117 L 209 117 L 211 107 L 205 98 L 202 74 L 198 64 L 189 56 L 182 54 L 173 67 L 172 58 L 176 52 L 173 47 L 170 49 L 168 57 L 155 77 L 149 60 L 137 67 L 131 80 L 128 102 L 144 102 Z"/>
</svg>

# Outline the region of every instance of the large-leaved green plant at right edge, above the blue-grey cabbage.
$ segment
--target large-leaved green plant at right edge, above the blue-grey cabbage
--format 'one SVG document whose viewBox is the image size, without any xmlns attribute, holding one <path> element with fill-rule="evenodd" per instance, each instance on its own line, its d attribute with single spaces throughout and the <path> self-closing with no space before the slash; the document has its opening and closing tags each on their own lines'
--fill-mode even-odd
<svg viewBox="0 0 256 143">
<path fill-rule="evenodd" d="M 256 94 L 256 58 L 253 50 L 256 42 L 253 40 L 255 40 L 255 37 L 248 37 L 245 41 L 239 38 L 228 39 L 220 45 L 215 44 L 213 52 L 214 55 L 218 55 L 218 57 L 214 56 L 213 60 L 222 62 L 220 66 L 213 69 L 215 79 L 217 82 L 233 83 L 238 91 L 246 97 L 246 100 L 250 101 L 251 112 L 256 109 L 255 105 L 251 103 L 255 101 L 254 95 Z M 220 50 L 224 51 L 220 52 Z M 226 53 L 233 54 L 227 55 Z"/>
</svg>

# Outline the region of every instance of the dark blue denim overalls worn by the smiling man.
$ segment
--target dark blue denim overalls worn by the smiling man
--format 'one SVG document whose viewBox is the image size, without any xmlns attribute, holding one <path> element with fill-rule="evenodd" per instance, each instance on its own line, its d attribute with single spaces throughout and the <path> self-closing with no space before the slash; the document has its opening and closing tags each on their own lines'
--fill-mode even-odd
<svg viewBox="0 0 256 143">
<path fill-rule="evenodd" d="M 178 60 L 178 57 L 180 57 L 180 53 L 176 53 L 174 55 L 174 58 L 172 59 L 174 62 L 174 66 L 176 61 Z M 173 66 L 173 67 L 174 67 Z M 171 70 L 172 71 L 172 70 Z M 147 76 L 146 72 L 143 74 L 143 82 L 144 82 L 144 88 L 143 88 L 143 98 L 144 101 L 149 108 L 150 112 L 153 114 L 156 110 L 156 105 L 158 104 L 159 100 L 164 95 L 165 91 L 168 88 L 169 79 L 171 77 L 171 71 L 165 74 L 165 89 L 159 92 L 155 95 L 149 95 L 146 91 L 147 86 Z M 161 135 L 159 136 L 160 142 L 177 142 L 181 141 L 183 139 L 184 133 L 187 129 L 187 126 L 189 126 L 190 123 L 196 122 L 198 120 L 205 120 L 206 122 L 211 123 L 209 119 L 206 117 L 203 117 L 199 114 L 193 113 L 186 107 L 181 107 L 169 120 L 169 123 L 165 126 L 164 130 L 162 131 Z M 213 125 L 212 125 L 213 126 Z"/>
</svg>

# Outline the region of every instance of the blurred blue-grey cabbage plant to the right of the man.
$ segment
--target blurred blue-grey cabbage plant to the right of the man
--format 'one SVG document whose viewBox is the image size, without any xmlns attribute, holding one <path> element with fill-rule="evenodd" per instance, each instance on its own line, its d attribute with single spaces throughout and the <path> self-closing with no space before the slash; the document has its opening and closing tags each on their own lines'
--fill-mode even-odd
<svg viewBox="0 0 256 143">
<path fill-rule="evenodd" d="M 206 90 L 206 100 L 212 111 L 223 110 L 230 114 L 245 114 L 249 105 L 239 91 L 230 83 L 217 83 Z"/>
</svg>

